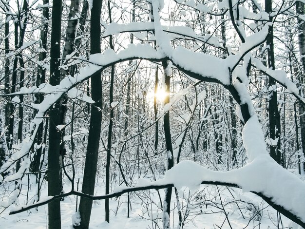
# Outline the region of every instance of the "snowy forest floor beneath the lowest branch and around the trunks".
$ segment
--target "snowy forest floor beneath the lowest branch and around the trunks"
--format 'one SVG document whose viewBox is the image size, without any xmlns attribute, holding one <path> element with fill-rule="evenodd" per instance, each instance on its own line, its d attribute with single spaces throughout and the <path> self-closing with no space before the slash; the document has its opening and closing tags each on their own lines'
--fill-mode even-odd
<svg viewBox="0 0 305 229">
<path fill-rule="evenodd" d="M 303 180 L 305 177 L 301 177 Z M 77 180 L 77 178 L 76 178 Z M 64 180 L 64 190 L 70 190 L 70 182 Z M 22 186 L 19 202 L 15 207 L 26 204 L 35 196 L 35 177 L 29 179 L 27 185 Z M 285 185 L 285 184 L 283 184 Z M 79 189 L 81 187 L 81 178 Z M 114 187 L 113 187 L 114 188 Z M 10 187 L 13 189 L 13 187 Z M 4 190 L 0 190 L 4 193 Z M 163 201 L 164 191 L 159 190 Z M 104 194 L 102 179 L 95 186 L 95 194 Z M 47 184 L 43 183 L 41 198 L 47 196 Z M 260 197 L 240 189 L 222 186 L 201 185 L 199 191 L 188 188 L 179 191 L 180 204 L 185 219 L 184 228 L 199 229 L 301 229 L 283 215 L 277 214 Z M 2 198 L 2 196 L 0 196 Z M 79 203 L 79 198 L 78 198 Z M 94 201 L 90 229 L 159 229 L 162 228 L 162 211 L 157 191 L 138 191 L 131 193 L 130 218 L 127 218 L 127 194 L 110 200 L 110 224 L 104 221 L 104 201 Z M 9 215 L 13 206 L 0 214 L 1 229 L 47 229 L 48 205 L 38 209 L 28 210 L 19 214 Z M 76 196 L 69 196 L 61 202 L 62 229 L 72 229 L 72 216 L 76 211 Z M 226 216 L 227 215 L 227 216 Z M 228 222 L 229 221 L 229 222 Z M 178 213 L 176 197 L 172 192 L 171 227 L 177 228 Z"/>
</svg>

